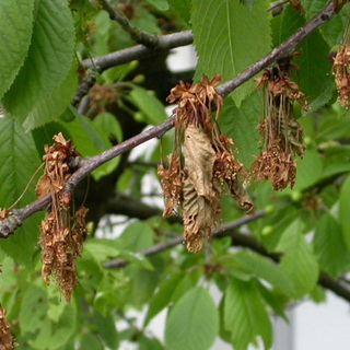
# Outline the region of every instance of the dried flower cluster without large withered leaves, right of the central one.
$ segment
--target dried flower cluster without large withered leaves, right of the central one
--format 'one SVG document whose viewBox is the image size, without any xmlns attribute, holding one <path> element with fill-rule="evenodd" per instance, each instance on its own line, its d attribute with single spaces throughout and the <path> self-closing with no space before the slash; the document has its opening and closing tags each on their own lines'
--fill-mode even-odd
<svg viewBox="0 0 350 350">
<path fill-rule="evenodd" d="M 303 129 L 293 115 L 293 102 L 305 106 L 305 97 L 298 84 L 288 78 L 285 69 L 289 66 L 287 62 L 266 70 L 257 86 L 257 90 L 264 89 L 265 118 L 258 126 L 262 151 L 254 162 L 252 173 L 257 180 L 270 180 L 275 190 L 289 184 L 293 187 L 296 173 L 294 156 L 303 156 L 305 151 Z"/>
</svg>

